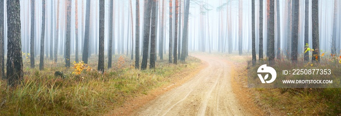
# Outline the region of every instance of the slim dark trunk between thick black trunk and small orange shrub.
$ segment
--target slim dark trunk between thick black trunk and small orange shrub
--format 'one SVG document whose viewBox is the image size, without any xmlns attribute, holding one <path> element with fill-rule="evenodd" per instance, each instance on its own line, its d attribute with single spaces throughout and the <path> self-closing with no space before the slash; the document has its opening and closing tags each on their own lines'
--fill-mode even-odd
<svg viewBox="0 0 341 116">
<path fill-rule="evenodd" d="M 113 59 L 113 12 L 114 12 L 114 0 L 110 0 L 110 12 L 109 12 L 109 43 L 108 43 L 108 69 L 112 67 Z"/>
</svg>

